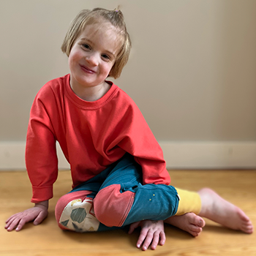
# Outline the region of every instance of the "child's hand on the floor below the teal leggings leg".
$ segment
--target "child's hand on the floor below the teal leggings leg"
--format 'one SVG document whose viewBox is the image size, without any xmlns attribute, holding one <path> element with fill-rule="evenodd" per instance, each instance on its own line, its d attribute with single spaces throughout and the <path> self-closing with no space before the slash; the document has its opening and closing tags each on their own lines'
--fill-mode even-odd
<svg viewBox="0 0 256 256">
<path fill-rule="evenodd" d="M 165 244 L 165 229 L 162 220 L 143 220 L 141 222 L 132 223 L 129 226 L 129 234 L 131 234 L 137 227 L 141 227 L 140 236 L 137 242 L 138 248 L 143 244 L 142 249 L 143 251 L 146 251 L 150 244 L 151 249 L 156 249 L 157 244 Z"/>
</svg>

